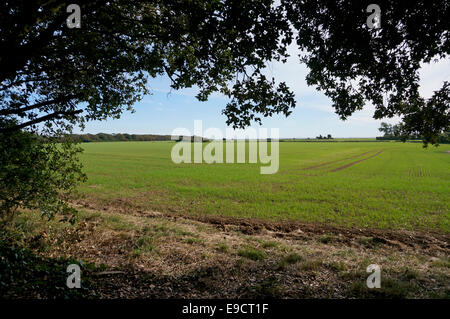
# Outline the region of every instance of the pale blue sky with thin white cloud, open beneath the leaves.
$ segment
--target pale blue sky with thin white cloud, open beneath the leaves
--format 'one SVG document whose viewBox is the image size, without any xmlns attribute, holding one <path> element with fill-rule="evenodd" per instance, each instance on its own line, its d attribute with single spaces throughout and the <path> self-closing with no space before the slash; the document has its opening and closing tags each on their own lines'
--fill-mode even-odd
<svg viewBox="0 0 450 319">
<path fill-rule="evenodd" d="M 255 124 L 252 127 L 278 128 L 281 138 L 306 138 L 319 134 L 375 137 L 380 136 L 378 128 L 382 121 L 399 122 L 399 118 L 373 119 L 374 108 L 371 105 L 355 112 L 346 121 L 340 120 L 334 113 L 331 100 L 306 84 L 308 69 L 299 62 L 297 49 L 291 46 L 289 53 L 290 58 L 285 64 L 269 62 L 266 75 L 288 84 L 295 93 L 296 108 L 288 117 L 274 115 L 263 118 L 262 126 Z M 450 80 L 450 59 L 422 65 L 420 79 L 420 93 L 425 98 L 430 97 L 433 91 L 442 87 L 444 80 Z M 76 128 L 74 133 L 171 134 L 176 128 L 193 132 L 194 120 L 202 120 L 203 130 L 214 127 L 225 134 L 226 117 L 221 113 L 228 101 L 226 97 L 215 94 L 207 102 L 199 102 L 195 98 L 196 89 L 171 90 L 166 76 L 150 79 L 149 86 L 151 94 L 134 105 L 135 113 L 125 111 L 120 119 L 92 121 L 86 124 L 84 131 Z"/>
</svg>

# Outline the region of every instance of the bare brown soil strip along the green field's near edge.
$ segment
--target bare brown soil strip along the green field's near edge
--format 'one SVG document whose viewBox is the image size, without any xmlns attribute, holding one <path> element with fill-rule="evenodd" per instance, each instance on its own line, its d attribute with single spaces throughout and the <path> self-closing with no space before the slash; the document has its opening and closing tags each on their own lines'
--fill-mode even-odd
<svg viewBox="0 0 450 319">
<path fill-rule="evenodd" d="M 432 252 L 445 252 L 450 254 L 450 234 L 443 234 L 435 231 L 410 231 L 410 230 L 388 230 L 371 228 L 354 228 L 331 226 L 324 223 L 304 223 L 292 220 L 272 221 L 258 218 L 240 218 L 228 216 L 207 216 L 190 215 L 178 212 L 161 213 L 154 211 L 143 211 L 130 207 L 120 207 L 114 203 L 110 207 L 104 204 L 89 202 L 78 202 L 75 207 L 83 206 L 85 209 L 95 209 L 104 212 L 120 212 L 122 214 L 134 215 L 138 217 L 159 217 L 178 221 L 196 221 L 214 226 L 219 231 L 235 229 L 246 235 L 257 235 L 269 231 L 277 238 L 308 239 L 311 237 L 332 234 L 339 237 L 343 244 L 349 244 L 360 237 L 372 237 L 387 246 L 396 248 L 413 248 L 416 250 L 426 250 Z"/>
</svg>

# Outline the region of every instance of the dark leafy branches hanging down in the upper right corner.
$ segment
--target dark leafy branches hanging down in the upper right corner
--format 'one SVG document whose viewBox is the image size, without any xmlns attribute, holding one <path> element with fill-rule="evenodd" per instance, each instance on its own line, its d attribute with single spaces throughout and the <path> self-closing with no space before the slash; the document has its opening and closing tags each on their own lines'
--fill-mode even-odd
<svg viewBox="0 0 450 319">
<path fill-rule="evenodd" d="M 450 126 L 449 83 L 425 100 L 419 69 L 450 54 L 450 2 L 380 0 L 381 28 L 369 29 L 371 1 L 283 0 L 298 31 L 309 85 L 333 101 L 347 119 L 367 103 L 374 118 L 403 118 L 404 134 L 435 144 Z"/>
</svg>

